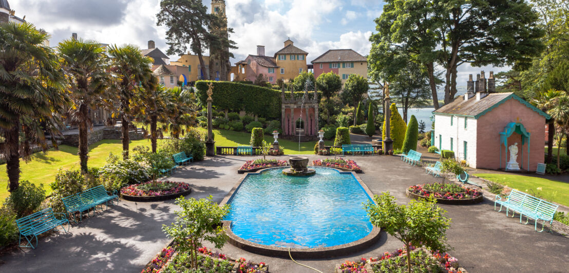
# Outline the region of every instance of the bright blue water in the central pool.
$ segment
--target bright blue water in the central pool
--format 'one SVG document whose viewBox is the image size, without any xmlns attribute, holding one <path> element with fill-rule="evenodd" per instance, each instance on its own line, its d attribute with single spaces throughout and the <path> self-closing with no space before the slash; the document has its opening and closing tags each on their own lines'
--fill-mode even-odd
<svg viewBox="0 0 569 273">
<path fill-rule="evenodd" d="M 372 224 L 370 197 L 351 173 L 311 167 L 316 175 L 282 175 L 283 168 L 248 175 L 228 204 L 232 231 L 261 245 L 329 247 L 364 238 Z"/>
</svg>

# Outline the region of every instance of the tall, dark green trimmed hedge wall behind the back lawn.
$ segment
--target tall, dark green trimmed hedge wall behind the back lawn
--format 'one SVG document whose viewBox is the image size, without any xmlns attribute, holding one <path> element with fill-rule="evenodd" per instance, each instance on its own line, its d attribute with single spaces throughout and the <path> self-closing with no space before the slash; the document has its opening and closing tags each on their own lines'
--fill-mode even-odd
<svg viewBox="0 0 569 273">
<path fill-rule="evenodd" d="M 213 82 L 212 105 L 217 110 L 234 112 L 243 110 L 259 117 L 281 118 L 281 91 L 239 82 L 196 81 L 197 99 L 201 105 L 207 105 L 207 90 L 210 82 Z M 296 98 L 302 98 L 303 94 L 304 92 L 294 92 Z M 293 96 L 291 92 L 284 92 L 285 98 L 291 96 Z M 314 92 L 308 92 L 308 98 L 313 97 Z"/>
</svg>

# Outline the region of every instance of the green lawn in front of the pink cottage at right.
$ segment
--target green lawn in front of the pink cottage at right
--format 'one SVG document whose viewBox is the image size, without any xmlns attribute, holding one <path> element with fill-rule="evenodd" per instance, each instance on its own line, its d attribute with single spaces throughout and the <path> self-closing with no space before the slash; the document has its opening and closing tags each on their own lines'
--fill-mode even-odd
<svg viewBox="0 0 569 273">
<path fill-rule="evenodd" d="M 527 190 L 528 193 L 536 197 L 542 197 L 546 200 L 569 206 L 569 183 L 524 175 L 477 173 L 476 176 L 502 185 L 508 185 L 508 187 L 518 191 L 525 192 Z"/>
</svg>

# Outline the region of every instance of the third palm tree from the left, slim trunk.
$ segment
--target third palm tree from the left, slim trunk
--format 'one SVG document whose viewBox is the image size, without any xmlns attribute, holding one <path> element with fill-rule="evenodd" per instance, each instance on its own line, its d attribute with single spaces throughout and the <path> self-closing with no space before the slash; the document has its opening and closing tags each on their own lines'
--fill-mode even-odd
<svg viewBox="0 0 569 273">
<path fill-rule="evenodd" d="M 117 81 L 112 85 L 116 91 L 121 113 L 123 158 L 129 158 L 129 123 L 131 119 L 130 100 L 139 88 L 152 89 L 152 59 L 142 56 L 137 46 L 112 46 L 109 50 L 112 59 L 111 70 L 116 73 Z"/>
</svg>

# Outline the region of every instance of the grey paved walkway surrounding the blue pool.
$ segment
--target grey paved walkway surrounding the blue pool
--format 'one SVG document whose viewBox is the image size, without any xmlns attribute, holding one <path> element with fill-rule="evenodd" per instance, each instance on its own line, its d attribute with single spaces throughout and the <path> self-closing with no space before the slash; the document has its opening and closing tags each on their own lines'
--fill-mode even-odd
<svg viewBox="0 0 569 273">
<path fill-rule="evenodd" d="M 312 159 L 323 158 L 309 156 Z M 270 158 L 287 159 L 288 156 Z M 373 193 L 390 191 L 401 203 L 409 202 L 404 191 L 410 185 L 435 181 L 424 169 L 409 166 L 391 156 L 349 156 L 365 173 L 360 177 Z M 194 192 L 188 197 L 212 195 L 222 200 L 241 175 L 238 166 L 246 156 L 217 156 L 176 171 L 171 180 L 192 184 Z M 476 272 L 567 272 L 569 239 L 537 233 L 533 226 L 519 224 L 516 218 L 506 218 L 504 212 L 494 212 L 493 203 L 485 200 L 477 205 L 440 205 L 452 218 L 448 242 L 455 250 L 451 254 L 471 273 Z M 98 213 L 70 233 L 53 234 L 43 238 L 36 250 L 18 250 L 0 257 L 1 272 L 140 272 L 142 267 L 164 246 L 168 239 L 163 224 L 174 220 L 173 201 L 137 203 L 121 201 L 104 213 Z M 305 260 L 300 262 L 323 272 L 332 272 L 337 263 L 361 257 L 377 257 L 385 251 L 401 247 L 397 239 L 383 234 L 380 242 L 368 250 L 347 257 Z M 255 262 L 269 263 L 271 272 L 313 272 L 291 260 L 263 257 L 227 244 L 222 252 L 231 257 L 244 257 Z"/>
</svg>

